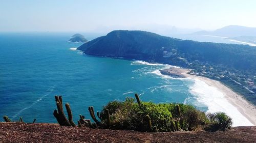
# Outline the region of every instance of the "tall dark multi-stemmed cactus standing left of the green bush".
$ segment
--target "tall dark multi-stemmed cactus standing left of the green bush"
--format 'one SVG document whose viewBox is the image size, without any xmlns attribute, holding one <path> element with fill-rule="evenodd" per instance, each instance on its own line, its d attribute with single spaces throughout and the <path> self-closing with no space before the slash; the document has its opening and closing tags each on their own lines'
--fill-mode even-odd
<svg viewBox="0 0 256 143">
<path fill-rule="evenodd" d="M 60 126 L 71 126 L 69 120 L 67 119 L 66 115 L 64 114 L 63 107 L 62 107 L 62 98 L 61 96 L 55 96 L 57 110 L 54 110 L 53 115 L 57 119 Z"/>
</svg>

